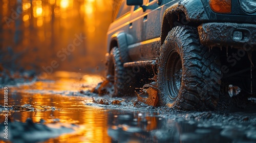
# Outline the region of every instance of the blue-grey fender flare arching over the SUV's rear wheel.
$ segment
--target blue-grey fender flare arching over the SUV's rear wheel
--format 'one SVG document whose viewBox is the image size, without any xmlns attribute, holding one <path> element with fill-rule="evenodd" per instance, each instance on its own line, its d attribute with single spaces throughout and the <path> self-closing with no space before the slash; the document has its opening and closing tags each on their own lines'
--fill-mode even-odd
<svg viewBox="0 0 256 143">
<path fill-rule="evenodd" d="M 125 32 L 117 32 L 111 36 L 110 45 L 108 45 L 108 52 L 117 46 L 120 52 L 122 62 L 129 62 L 131 58 L 128 53 L 128 44 L 131 43 L 133 38 Z"/>
</svg>

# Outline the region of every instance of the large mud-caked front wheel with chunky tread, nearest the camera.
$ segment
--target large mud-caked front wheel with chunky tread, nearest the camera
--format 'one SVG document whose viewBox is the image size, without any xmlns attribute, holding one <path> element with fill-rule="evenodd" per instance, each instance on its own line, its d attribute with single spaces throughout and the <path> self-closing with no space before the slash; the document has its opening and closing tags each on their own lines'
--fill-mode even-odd
<svg viewBox="0 0 256 143">
<path fill-rule="evenodd" d="M 214 50 L 201 45 L 196 28 L 173 28 L 159 57 L 161 104 L 181 110 L 215 109 L 221 84 L 217 55 Z"/>
</svg>

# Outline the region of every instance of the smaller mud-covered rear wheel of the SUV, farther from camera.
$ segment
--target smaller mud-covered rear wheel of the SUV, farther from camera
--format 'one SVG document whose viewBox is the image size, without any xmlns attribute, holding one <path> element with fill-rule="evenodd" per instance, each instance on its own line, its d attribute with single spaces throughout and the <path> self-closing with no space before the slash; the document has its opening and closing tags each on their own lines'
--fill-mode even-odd
<svg viewBox="0 0 256 143">
<path fill-rule="evenodd" d="M 135 93 L 134 79 L 129 68 L 123 67 L 118 47 L 114 47 L 106 62 L 106 79 L 114 84 L 113 97 L 132 96 Z"/>
</svg>

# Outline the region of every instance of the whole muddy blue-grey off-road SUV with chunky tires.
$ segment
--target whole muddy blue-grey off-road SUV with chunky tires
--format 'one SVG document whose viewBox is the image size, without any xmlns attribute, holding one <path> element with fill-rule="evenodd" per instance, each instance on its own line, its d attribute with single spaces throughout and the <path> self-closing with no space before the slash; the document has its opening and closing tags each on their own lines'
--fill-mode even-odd
<svg viewBox="0 0 256 143">
<path fill-rule="evenodd" d="M 146 84 L 160 105 L 200 111 L 213 110 L 222 90 L 255 97 L 256 2 L 124 0 L 107 50 L 113 96 Z"/>
</svg>

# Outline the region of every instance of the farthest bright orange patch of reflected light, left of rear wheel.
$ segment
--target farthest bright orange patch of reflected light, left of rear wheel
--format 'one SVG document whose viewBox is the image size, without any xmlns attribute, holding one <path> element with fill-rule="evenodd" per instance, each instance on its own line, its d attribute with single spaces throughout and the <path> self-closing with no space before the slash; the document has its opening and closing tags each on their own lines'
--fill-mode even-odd
<svg viewBox="0 0 256 143">
<path fill-rule="evenodd" d="M 88 90 L 95 87 L 104 78 L 99 75 L 88 75 L 75 72 L 57 71 L 48 77 L 49 80 L 37 81 L 34 84 L 22 86 L 23 92 L 61 93 Z M 56 80 L 57 79 L 57 80 Z M 14 88 L 15 89 L 15 88 Z"/>
</svg>

